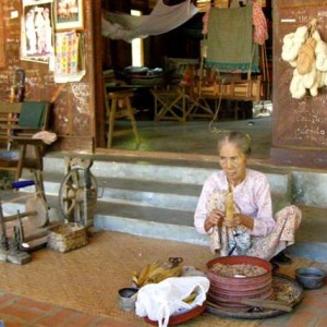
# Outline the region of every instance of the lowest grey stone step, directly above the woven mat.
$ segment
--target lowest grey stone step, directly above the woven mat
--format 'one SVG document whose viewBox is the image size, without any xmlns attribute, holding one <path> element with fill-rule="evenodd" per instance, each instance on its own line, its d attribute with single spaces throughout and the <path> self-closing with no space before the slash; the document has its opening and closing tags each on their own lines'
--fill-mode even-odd
<svg viewBox="0 0 327 327">
<path fill-rule="evenodd" d="M 62 219 L 58 196 L 48 195 L 51 220 Z M 5 215 L 24 211 L 25 205 L 20 203 L 3 204 Z M 288 252 L 298 257 L 305 257 L 327 264 L 327 240 L 325 234 L 326 209 L 301 207 L 302 223 L 296 232 L 295 244 Z M 4 215 L 4 216 L 5 216 Z M 193 227 L 193 213 L 168 208 L 155 208 L 132 204 L 108 203 L 99 199 L 96 205 L 94 226 L 101 230 L 118 231 L 140 235 L 192 243 L 208 246 L 208 238 L 198 234 Z"/>
</svg>

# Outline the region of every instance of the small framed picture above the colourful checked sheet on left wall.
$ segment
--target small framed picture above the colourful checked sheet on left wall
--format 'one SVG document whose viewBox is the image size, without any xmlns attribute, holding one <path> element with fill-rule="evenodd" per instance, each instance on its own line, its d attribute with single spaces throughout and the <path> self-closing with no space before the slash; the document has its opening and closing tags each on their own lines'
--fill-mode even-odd
<svg viewBox="0 0 327 327">
<path fill-rule="evenodd" d="M 55 28 L 56 31 L 83 29 L 83 0 L 56 0 Z"/>
</svg>

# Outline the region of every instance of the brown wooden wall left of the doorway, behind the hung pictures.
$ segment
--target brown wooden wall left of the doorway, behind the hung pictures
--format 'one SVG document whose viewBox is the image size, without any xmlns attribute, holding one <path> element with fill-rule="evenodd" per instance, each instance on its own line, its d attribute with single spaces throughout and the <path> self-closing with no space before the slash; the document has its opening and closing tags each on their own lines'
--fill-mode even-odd
<svg viewBox="0 0 327 327">
<path fill-rule="evenodd" d="M 48 64 L 21 60 L 21 0 L 1 0 L 0 99 L 9 101 L 14 72 L 24 70 L 25 100 L 52 102 L 51 129 L 59 141 L 49 149 L 93 153 L 95 146 L 95 81 L 93 48 L 93 7 L 98 0 L 84 0 L 86 75 L 81 82 L 56 84 Z M 99 3 L 98 3 L 99 4 Z M 19 16 L 15 17 L 15 13 Z M 3 57 L 3 52 L 5 57 Z"/>
</svg>

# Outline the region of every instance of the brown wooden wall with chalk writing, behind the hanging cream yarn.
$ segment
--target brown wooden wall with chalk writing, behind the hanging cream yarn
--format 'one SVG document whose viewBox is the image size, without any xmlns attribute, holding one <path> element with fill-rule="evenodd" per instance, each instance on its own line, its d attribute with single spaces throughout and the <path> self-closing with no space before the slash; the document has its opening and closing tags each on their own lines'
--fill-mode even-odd
<svg viewBox="0 0 327 327">
<path fill-rule="evenodd" d="M 274 124 L 271 158 L 296 167 L 327 167 L 327 88 L 316 97 L 293 99 L 289 86 L 293 68 L 281 60 L 282 38 L 313 19 L 327 41 L 327 1 L 274 1 Z"/>
</svg>

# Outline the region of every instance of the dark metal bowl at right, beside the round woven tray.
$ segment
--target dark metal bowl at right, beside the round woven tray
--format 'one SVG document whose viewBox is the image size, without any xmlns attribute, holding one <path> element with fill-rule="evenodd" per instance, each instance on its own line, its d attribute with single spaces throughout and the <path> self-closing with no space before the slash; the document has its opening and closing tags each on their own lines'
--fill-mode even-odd
<svg viewBox="0 0 327 327">
<path fill-rule="evenodd" d="M 305 289 L 319 289 L 324 284 L 326 272 L 315 267 L 298 268 L 295 276 L 298 282 Z"/>
</svg>

